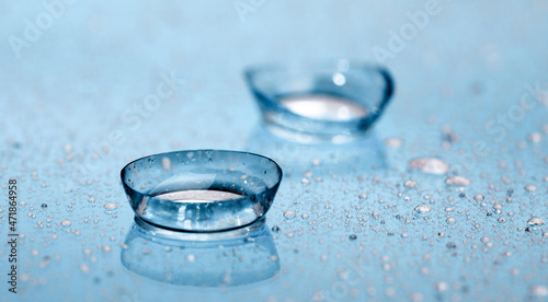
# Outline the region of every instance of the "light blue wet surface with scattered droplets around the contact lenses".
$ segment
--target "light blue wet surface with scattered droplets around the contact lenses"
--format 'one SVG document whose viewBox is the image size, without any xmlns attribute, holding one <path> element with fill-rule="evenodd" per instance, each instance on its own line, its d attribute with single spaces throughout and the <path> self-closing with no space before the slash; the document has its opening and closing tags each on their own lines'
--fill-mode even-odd
<svg viewBox="0 0 548 302">
<path fill-rule="evenodd" d="M 50 26 L 43 15 L 30 39 L 26 20 L 48 10 L 0 2 L 0 181 L 20 184 L 22 234 L 16 295 L 2 244 L 1 301 L 548 299 L 548 226 L 526 231 L 534 216 L 548 221 L 546 1 L 241 2 L 75 1 Z M 323 58 L 388 66 L 397 91 L 385 115 L 350 146 L 270 137 L 242 70 Z M 266 216 L 281 230 L 275 277 L 201 288 L 122 264 L 134 214 L 119 170 L 206 148 L 261 151 L 282 165 Z M 447 162 L 448 175 L 408 167 L 423 156 Z M 447 186 L 453 175 L 471 185 Z M 418 216 L 421 204 L 432 211 Z M 7 201 L 0 210 L 3 242 Z"/>
</svg>

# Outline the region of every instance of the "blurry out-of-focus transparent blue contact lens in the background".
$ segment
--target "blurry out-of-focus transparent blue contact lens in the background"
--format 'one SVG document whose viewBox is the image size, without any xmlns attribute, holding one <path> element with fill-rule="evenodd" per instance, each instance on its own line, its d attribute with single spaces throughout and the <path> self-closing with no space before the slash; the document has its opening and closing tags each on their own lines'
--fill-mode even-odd
<svg viewBox="0 0 548 302">
<path fill-rule="evenodd" d="M 309 143 L 362 136 L 393 91 L 387 70 L 344 59 L 251 67 L 246 80 L 270 130 Z"/>
</svg>

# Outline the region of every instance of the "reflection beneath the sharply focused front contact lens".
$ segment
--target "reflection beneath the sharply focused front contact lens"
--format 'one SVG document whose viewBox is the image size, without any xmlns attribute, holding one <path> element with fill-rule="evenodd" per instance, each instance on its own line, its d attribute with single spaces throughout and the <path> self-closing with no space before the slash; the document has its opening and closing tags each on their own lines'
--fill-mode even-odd
<svg viewBox="0 0 548 302">
<path fill-rule="evenodd" d="M 195 287 L 249 284 L 279 271 L 276 246 L 264 220 L 235 231 L 202 234 L 158 229 L 136 220 L 121 259 L 140 276 Z"/>
</svg>

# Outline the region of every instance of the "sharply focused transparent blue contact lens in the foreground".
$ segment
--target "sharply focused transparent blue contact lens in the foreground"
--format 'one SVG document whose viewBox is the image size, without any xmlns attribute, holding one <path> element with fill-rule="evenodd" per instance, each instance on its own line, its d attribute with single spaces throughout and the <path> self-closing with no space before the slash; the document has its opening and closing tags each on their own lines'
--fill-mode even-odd
<svg viewBox="0 0 548 302">
<path fill-rule="evenodd" d="M 282 170 L 253 153 L 192 150 L 141 158 L 127 164 L 121 176 L 141 221 L 178 231 L 218 232 L 262 218 Z"/>
</svg>

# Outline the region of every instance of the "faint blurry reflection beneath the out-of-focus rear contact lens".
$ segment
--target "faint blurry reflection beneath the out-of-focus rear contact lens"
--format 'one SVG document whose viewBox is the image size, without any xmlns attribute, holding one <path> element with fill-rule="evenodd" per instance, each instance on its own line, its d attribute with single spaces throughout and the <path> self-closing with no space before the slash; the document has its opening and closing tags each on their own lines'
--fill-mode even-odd
<svg viewBox="0 0 548 302">
<path fill-rule="evenodd" d="M 343 144 L 308 144 L 279 138 L 260 124 L 248 140 L 248 151 L 273 159 L 286 174 L 311 167 L 341 174 L 351 171 L 365 173 L 387 166 L 385 147 L 374 132 Z"/>
</svg>

